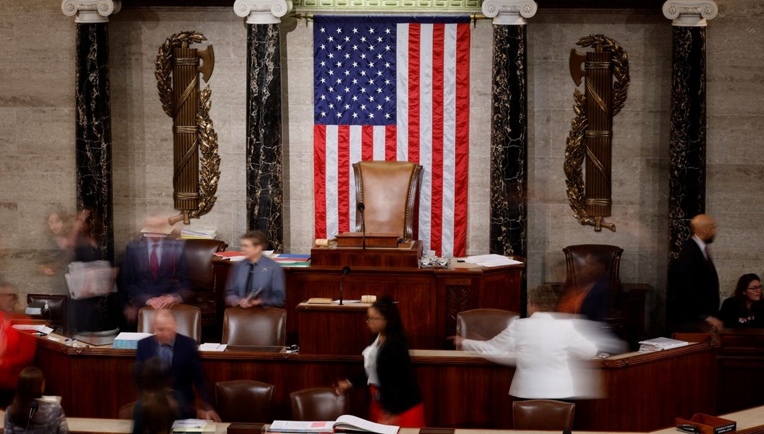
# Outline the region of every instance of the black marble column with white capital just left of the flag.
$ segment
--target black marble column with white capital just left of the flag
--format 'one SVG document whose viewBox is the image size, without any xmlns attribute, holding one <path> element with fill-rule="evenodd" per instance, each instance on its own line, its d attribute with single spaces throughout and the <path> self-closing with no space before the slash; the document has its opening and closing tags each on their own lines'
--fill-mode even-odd
<svg viewBox="0 0 764 434">
<path fill-rule="evenodd" d="M 280 21 L 284 0 L 236 0 L 247 18 L 247 227 L 283 251 Z"/>
</svg>

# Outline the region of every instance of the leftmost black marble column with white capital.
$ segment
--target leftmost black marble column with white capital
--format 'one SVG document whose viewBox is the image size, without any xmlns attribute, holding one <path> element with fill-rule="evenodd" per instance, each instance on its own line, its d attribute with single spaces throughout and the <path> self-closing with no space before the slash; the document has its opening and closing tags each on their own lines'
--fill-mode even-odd
<svg viewBox="0 0 764 434">
<path fill-rule="evenodd" d="M 103 259 L 114 260 L 112 204 L 112 110 L 108 84 L 108 16 L 112 0 L 64 0 L 61 10 L 76 22 L 76 201 L 103 225 L 92 227 Z"/>
</svg>

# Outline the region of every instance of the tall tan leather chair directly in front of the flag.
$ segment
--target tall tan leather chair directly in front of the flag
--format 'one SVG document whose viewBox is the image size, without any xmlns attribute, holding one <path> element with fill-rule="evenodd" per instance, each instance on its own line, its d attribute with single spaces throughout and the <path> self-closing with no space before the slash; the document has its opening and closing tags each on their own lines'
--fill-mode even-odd
<svg viewBox="0 0 764 434">
<path fill-rule="evenodd" d="M 366 233 L 397 233 L 413 238 L 413 215 L 419 193 L 422 166 L 406 161 L 354 163 L 355 201 L 364 212 L 355 214 L 355 230 Z"/>
</svg>

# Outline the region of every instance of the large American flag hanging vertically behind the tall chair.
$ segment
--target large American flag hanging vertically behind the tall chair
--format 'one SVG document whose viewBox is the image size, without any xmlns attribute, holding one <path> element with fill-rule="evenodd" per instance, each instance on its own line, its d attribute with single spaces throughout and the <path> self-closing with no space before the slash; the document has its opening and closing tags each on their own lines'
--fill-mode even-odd
<svg viewBox="0 0 764 434">
<path fill-rule="evenodd" d="M 468 17 L 316 16 L 316 238 L 354 227 L 352 164 L 422 165 L 415 239 L 440 256 L 467 248 Z"/>
</svg>

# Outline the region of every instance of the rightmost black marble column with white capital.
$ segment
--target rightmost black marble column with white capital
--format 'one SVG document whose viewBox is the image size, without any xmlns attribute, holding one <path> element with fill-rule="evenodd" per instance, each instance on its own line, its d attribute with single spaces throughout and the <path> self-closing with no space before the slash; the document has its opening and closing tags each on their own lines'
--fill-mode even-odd
<svg viewBox="0 0 764 434">
<path fill-rule="evenodd" d="M 691 236 L 689 222 L 706 208 L 706 20 L 711 0 L 669 0 L 673 20 L 672 98 L 669 126 L 669 262 Z"/>
</svg>

